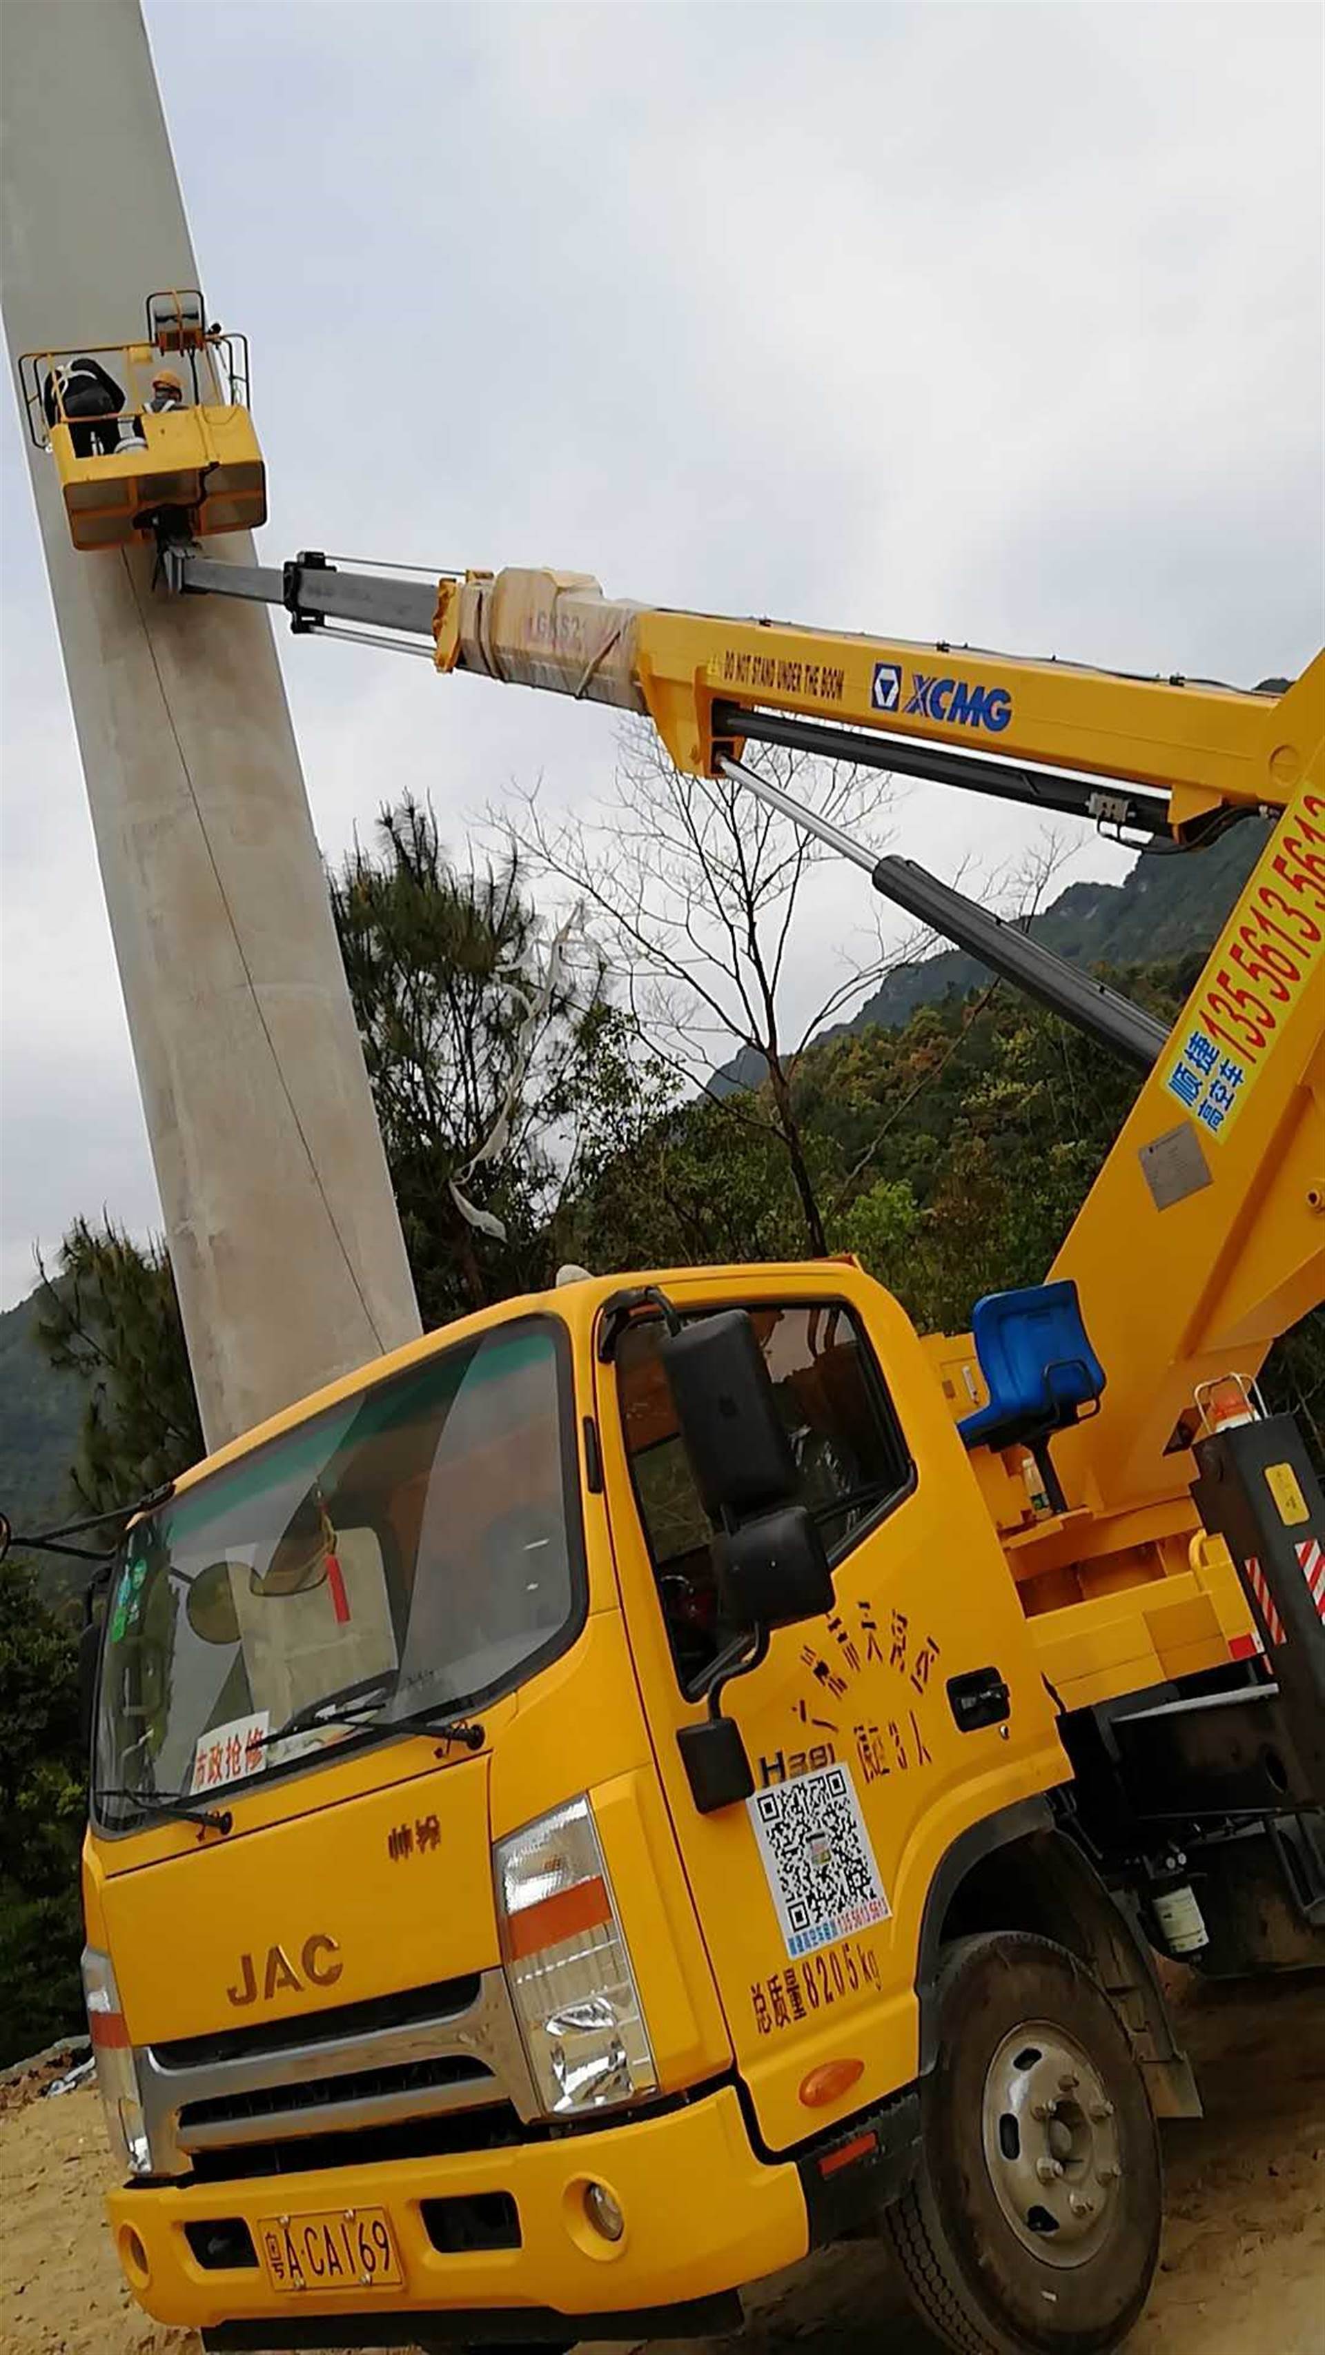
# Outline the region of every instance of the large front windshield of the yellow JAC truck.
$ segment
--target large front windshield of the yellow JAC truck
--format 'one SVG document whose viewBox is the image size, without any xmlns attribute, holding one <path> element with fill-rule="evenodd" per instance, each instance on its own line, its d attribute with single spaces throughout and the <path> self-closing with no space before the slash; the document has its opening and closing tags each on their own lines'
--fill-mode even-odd
<svg viewBox="0 0 1325 2355">
<path fill-rule="evenodd" d="M 96 1811 L 209 1795 L 560 1651 L 584 1599 L 562 1326 L 379 1382 L 132 1528 L 111 1583 Z M 141 1806 L 137 1799 L 141 1797 Z"/>
</svg>

